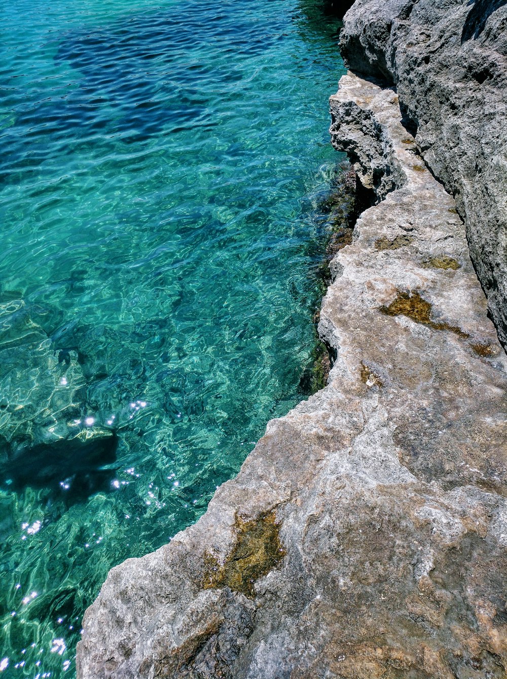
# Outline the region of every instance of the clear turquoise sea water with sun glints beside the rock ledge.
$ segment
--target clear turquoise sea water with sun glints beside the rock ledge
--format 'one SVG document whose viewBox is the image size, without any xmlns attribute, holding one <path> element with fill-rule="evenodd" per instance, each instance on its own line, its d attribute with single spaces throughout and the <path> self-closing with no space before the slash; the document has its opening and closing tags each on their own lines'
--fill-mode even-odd
<svg viewBox="0 0 507 679">
<path fill-rule="evenodd" d="M 304 397 L 343 72 L 317 4 L 2 3 L 2 679 L 73 676 L 108 569 Z"/>
</svg>

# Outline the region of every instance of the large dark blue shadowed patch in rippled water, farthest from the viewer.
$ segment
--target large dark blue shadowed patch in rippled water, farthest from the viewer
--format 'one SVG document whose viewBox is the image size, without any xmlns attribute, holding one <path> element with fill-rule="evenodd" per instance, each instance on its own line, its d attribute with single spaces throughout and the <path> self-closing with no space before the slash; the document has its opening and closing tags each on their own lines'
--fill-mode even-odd
<svg viewBox="0 0 507 679">
<path fill-rule="evenodd" d="M 58 90 L 45 100 L 20 101 L 5 130 L 0 187 L 37 177 L 48 145 L 62 153 L 69 143 L 73 149 L 94 145 L 98 136 L 103 156 L 117 152 L 118 143 L 214 128 L 220 120 L 211 115 L 209 99 L 241 80 L 241 56 L 264 52 L 278 31 L 279 18 L 266 31 L 245 18 L 241 6 L 224 2 L 218 13 L 207 0 L 191 0 L 184 14 L 178 8 L 128 14 L 106 26 L 68 31 L 54 62 L 70 65 L 73 87 L 64 96 Z M 185 63 L 178 66 L 182 52 Z M 62 77 L 67 81 L 68 73 Z"/>
</svg>

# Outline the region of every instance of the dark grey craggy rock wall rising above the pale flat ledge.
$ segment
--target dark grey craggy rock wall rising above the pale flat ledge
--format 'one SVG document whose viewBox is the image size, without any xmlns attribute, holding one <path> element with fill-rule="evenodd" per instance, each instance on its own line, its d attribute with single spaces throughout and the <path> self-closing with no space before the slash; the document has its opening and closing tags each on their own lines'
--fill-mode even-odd
<svg viewBox="0 0 507 679">
<path fill-rule="evenodd" d="M 397 88 L 407 128 L 456 200 L 501 342 L 507 342 L 507 3 L 357 0 L 342 56 Z"/>
</svg>

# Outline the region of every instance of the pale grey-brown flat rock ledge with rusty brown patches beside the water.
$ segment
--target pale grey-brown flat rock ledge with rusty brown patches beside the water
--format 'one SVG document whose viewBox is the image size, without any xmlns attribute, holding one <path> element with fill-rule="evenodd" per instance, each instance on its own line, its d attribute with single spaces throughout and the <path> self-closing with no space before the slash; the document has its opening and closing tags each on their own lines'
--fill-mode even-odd
<svg viewBox="0 0 507 679">
<path fill-rule="evenodd" d="M 110 571 L 79 679 L 506 676 L 507 359 L 397 94 L 346 76 L 331 107 L 384 200 L 333 260 L 329 383 L 195 526 Z"/>
</svg>

